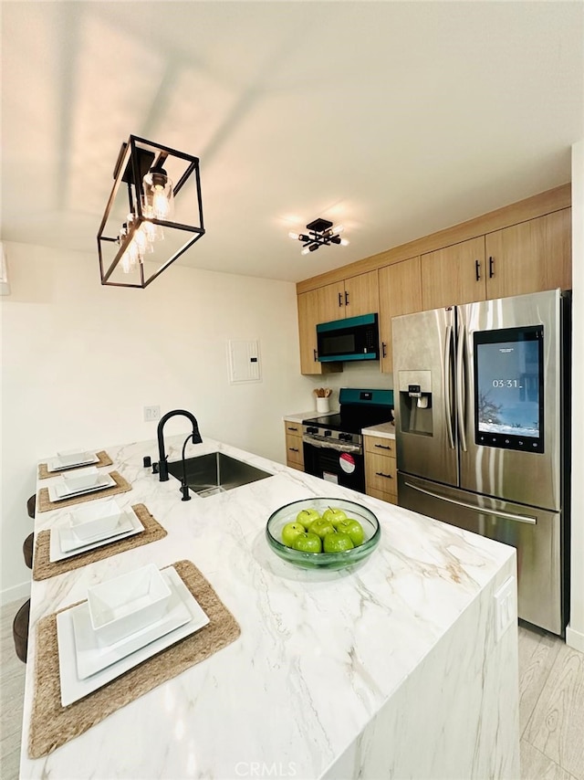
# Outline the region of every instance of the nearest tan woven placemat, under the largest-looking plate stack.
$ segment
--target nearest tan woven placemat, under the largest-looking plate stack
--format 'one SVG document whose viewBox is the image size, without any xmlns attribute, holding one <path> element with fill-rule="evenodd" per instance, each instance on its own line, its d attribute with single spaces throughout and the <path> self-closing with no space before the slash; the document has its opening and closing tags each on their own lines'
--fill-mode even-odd
<svg viewBox="0 0 584 780">
<path fill-rule="evenodd" d="M 149 690 L 230 645 L 241 629 L 213 587 L 191 561 L 173 564 L 210 622 L 200 631 L 162 650 L 84 699 L 61 707 L 58 673 L 57 613 L 36 627 L 35 698 L 28 734 L 28 755 L 40 758 L 86 732 Z M 79 602 L 80 603 L 80 602 Z M 74 606 L 74 605 L 70 605 Z M 67 608 L 70 608 L 67 607 Z M 59 610 L 63 611 L 63 610 Z"/>
</svg>

